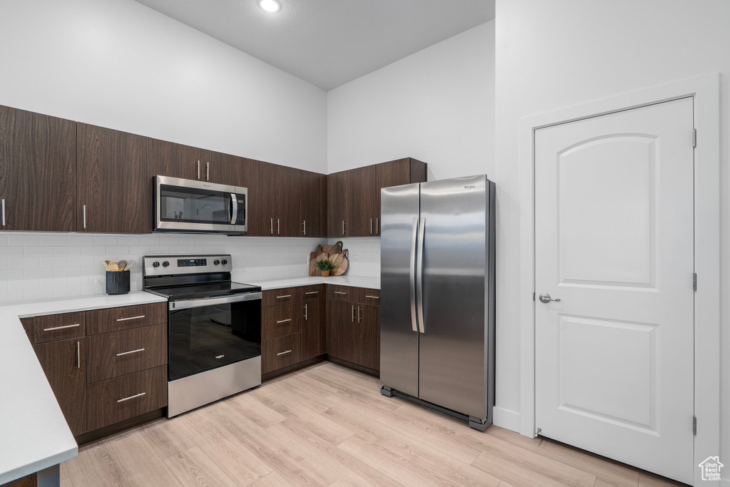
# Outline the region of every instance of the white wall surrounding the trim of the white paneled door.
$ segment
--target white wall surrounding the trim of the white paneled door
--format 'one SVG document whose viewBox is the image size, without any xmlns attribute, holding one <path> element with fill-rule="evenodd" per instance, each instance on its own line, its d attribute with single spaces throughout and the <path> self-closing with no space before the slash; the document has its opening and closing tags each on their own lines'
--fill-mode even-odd
<svg viewBox="0 0 730 487">
<path fill-rule="evenodd" d="M 496 181 L 499 199 L 499 299 L 503 350 L 499 401 L 519 411 L 518 295 L 521 238 L 518 120 L 585 101 L 653 85 L 722 72 L 721 82 L 721 296 L 728 296 L 727 242 L 730 189 L 730 2 L 720 0 L 498 0 L 496 4 Z M 698 134 L 702 143 L 702 134 Z M 730 459 L 730 318 L 721 309 L 721 459 Z M 514 386 L 505 386 L 513 384 Z"/>
</svg>

